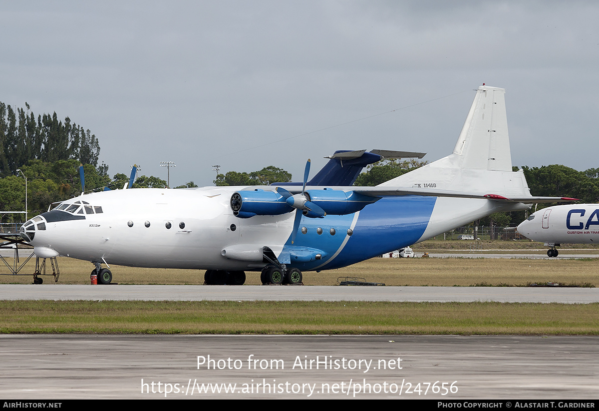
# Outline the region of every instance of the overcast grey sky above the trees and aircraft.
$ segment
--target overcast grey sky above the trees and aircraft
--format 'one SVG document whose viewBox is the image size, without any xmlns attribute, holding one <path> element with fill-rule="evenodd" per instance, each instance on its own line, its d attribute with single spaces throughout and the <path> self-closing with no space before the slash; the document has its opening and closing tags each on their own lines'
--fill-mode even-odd
<svg viewBox="0 0 599 411">
<path fill-rule="evenodd" d="M 4 1 L 0 19 L 0 101 L 90 129 L 110 176 L 434 161 L 482 83 L 507 89 L 514 165 L 599 167 L 597 1 Z"/>
</svg>

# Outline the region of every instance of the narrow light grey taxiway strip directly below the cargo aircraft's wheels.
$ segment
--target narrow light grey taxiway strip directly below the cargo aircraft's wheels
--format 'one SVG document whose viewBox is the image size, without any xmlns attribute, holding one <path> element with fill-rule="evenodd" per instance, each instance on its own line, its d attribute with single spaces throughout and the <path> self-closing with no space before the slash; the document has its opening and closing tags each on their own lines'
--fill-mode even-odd
<svg viewBox="0 0 599 411">
<path fill-rule="evenodd" d="M 219 285 L 0 285 L 0 300 L 599 302 L 597 288 Z"/>
</svg>

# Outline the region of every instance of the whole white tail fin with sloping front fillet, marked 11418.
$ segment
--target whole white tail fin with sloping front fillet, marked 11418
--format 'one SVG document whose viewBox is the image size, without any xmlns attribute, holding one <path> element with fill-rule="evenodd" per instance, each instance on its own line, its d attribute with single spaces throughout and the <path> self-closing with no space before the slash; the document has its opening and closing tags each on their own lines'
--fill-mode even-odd
<svg viewBox="0 0 599 411">
<path fill-rule="evenodd" d="M 506 197 L 530 196 L 524 174 L 512 172 L 505 92 L 480 86 L 453 153 L 381 186 L 422 185 Z"/>
</svg>

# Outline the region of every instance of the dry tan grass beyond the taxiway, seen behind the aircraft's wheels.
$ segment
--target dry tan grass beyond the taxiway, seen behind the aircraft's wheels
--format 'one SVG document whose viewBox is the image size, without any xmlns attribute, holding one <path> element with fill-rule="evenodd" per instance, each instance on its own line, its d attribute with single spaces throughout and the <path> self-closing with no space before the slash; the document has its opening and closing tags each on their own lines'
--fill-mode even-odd
<svg viewBox="0 0 599 411">
<path fill-rule="evenodd" d="M 89 284 L 93 265 L 86 261 L 59 258 L 59 283 Z M 373 258 L 368 261 L 320 273 L 304 273 L 305 285 L 335 285 L 337 277 L 364 277 L 388 286 L 471 286 L 527 285 L 558 282 L 599 286 L 599 259 L 468 259 L 468 258 Z M 32 273 L 29 262 L 23 273 Z M 6 273 L 6 268 L 2 272 Z M 204 283 L 203 270 L 132 268 L 111 266 L 113 282 L 120 284 L 193 284 Z M 258 272 L 247 272 L 246 284 L 259 285 Z M 44 283 L 53 283 L 46 276 Z M 32 282 L 31 276 L 0 276 L 0 283 Z"/>
</svg>

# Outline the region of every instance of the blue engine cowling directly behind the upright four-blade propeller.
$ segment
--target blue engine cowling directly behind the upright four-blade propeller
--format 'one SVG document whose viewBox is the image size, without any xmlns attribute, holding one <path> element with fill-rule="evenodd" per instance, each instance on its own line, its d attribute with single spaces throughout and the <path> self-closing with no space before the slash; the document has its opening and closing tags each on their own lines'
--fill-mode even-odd
<svg viewBox="0 0 599 411">
<path fill-rule="evenodd" d="M 333 214 L 336 216 L 356 213 L 368 204 L 380 200 L 380 197 L 368 197 L 367 195 L 358 194 L 354 191 L 344 192 L 330 188 L 325 188 L 323 190 L 308 190 L 306 193 L 310 196 L 310 201 L 319 205 L 319 207 L 325 210 L 326 214 Z"/>
</svg>

